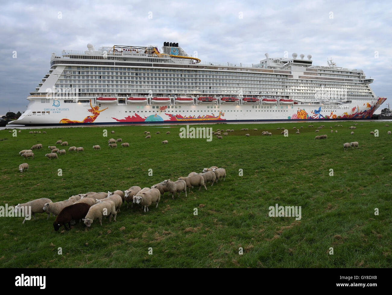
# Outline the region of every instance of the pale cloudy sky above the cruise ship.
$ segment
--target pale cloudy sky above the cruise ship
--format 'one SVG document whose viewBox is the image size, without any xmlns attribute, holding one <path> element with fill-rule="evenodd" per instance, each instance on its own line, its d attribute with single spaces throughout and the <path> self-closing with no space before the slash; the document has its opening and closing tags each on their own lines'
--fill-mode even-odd
<svg viewBox="0 0 392 295">
<path fill-rule="evenodd" d="M 51 53 L 178 42 L 202 61 L 252 64 L 311 54 L 359 68 L 392 103 L 390 1 L 7 1 L 0 11 L 0 115 L 24 111 Z M 16 58 L 13 58 L 16 51 Z M 385 107 L 385 103 L 382 108 Z M 377 110 L 377 113 L 379 113 Z"/>
</svg>

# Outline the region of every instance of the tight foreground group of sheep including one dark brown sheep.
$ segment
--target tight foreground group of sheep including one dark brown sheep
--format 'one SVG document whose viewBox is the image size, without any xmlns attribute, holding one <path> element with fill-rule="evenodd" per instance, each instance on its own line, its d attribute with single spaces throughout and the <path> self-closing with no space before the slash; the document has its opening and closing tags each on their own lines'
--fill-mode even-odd
<svg viewBox="0 0 392 295">
<path fill-rule="evenodd" d="M 52 202 L 48 198 L 40 198 L 16 205 L 15 213 L 21 210 L 22 207 L 31 207 L 31 214 L 34 219 L 36 219 L 36 213 L 47 213 L 47 220 L 49 220 L 52 214 L 56 216 L 56 220 L 53 223 L 55 231 L 58 231 L 62 226 L 69 230 L 71 229 L 71 222 L 76 223 L 77 220 L 82 220 L 87 227 L 90 227 L 94 220 L 98 220 L 100 225 L 102 225 L 103 217 L 109 216 L 109 222 L 111 222 L 112 217 L 116 221 L 117 213 L 120 212 L 120 207 L 125 202 L 127 203 L 127 208 L 129 203 L 131 203 L 132 207 L 133 204 L 136 204 L 141 206 L 144 212 L 147 212 L 151 205 L 158 207 L 160 198 L 165 192 L 169 192 L 172 199 L 174 199 L 176 193 L 178 193 L 178 197 L 180 197 L 181 192 L 185 192 L 185 196 L 187 196 L 187 189 L 191 191 L 193 187 L 198 186 L 199 191 L 201 187 L 207 190 L 207 183 L 211 183 L 212 186 L 214 183 L 218 183 L 218 180 L 223 179 L 224 181 L 225 178 L 225 169 L 212 166 L 204 168 L 203 172 L 200 173 L 191 172 L 186 177 L 178 178 L 177 181 L 168 179 L 143 189 L 135 185 L 125 191 L 87 192 L 85 194 L 73 195 L 67 200 L 59 202 Z M 23 220 L 23 223 L 25 221 L 26 218 Z"/>
</svg>

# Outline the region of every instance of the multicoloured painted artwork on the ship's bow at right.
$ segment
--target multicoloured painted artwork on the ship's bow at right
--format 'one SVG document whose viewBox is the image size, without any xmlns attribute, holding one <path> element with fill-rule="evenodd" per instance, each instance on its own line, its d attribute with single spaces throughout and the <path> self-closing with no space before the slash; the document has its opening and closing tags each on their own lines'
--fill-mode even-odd
<svg viewBox="0 0 392 295">
<path fill-rule="evenodd" d="M 384 97 L 379 97 L 377 102 L 370 106 L 369 103 L 366 103 L 366 109 L 362 112 L 359 110 L 359 106 L 348 110 L 348 112 L 344 112 L 343 115 L 336 115 L 334 111 L 331 111 L 330 115 L 321 115 L 321 106 L 318 110 L 314 110 L 310 112 L 310 115 L 305 111 L 305 109 L 298 108 L 297 114 L 293 114 L 287 117 L 290 120 L 311 120 L 311 119 L 370 119 L 377 108 L 384 103 L 387 99 Z M 363 104 L 365 106 L 365 103 Z"/>
</svg>

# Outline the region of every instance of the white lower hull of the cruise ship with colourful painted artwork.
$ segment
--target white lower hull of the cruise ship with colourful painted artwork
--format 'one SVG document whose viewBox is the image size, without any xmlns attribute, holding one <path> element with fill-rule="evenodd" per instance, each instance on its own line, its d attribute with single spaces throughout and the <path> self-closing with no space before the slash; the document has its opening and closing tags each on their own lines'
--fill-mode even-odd
<svg viewBox="0 0 392 295">
<path fill-rule="evenodd" d="M 86 101 L 87 98 L 84 98 Z M 157 124 L 157 123 L 230 123 L 288 120 L 352 120 L 369 119 L 385 101 L 358 101 L 343 105 L 259 105 L 259 104 L 94 104 L 64 103 L 62 99 L 29 98 L 29 106 L 22 116 L 10 122 L 34 125 L 90 125 L 90 124 Z"/>
</svg>

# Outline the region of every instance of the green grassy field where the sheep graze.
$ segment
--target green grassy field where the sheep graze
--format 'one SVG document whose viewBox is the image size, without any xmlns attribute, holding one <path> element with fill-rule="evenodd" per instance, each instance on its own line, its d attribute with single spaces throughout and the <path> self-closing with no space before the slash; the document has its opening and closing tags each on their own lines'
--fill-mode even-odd
<svg viewBox="0 0 392 295">
<path fill-rule="evenodd" d="M 151 206 L 147 213 L 122 207 L 116 222 L 104 219 L 102 226 L 94 222 L 90 229 L 76 224 L 71 231 L 55 232 L 54 217 L 47 221 L 46 214 L 25 224 L 20 217 L 2 217 L 0 266 L 390 267 L 392 136 L 387 131 L 392 127 L 385 127 L 385 122 L 358 122 L 356 130 L 350 130 L 352 123 L 203 125 L 235 130 L 211 142 L 181 139 L 181 126 L 109 127 L 108 137 L 103 137 L 105 127 L 40 129 L 47 134 L 22 130 L 17 137 L 1 130 L 3 206 L 151 186 L 212 165 L 225 168 L 227 177 L 207 186 L 207 191 L 194 188 L 188 197 L 181 194 L 172 200 L 165 194 L 158 208 Z M 314 128 L 307 128 L 309 124 Z M 314 140 L 319 125 L 325 125 L 319 135 L 327 134 L 328 139 Z M 305 128 L 295 134 L 293 126 Z M 331 134 L 330 126 L 338 133 Z M 278 127 L 287 128 L 289 136 L 283 137 Z M 379 137 L 370 135 L 375 129 Z M 116 133 L 111 135 L 110 130 Z M 144 138 L 144 130 L 151 132 L 151 139 Z M 168 130 L 171 134 L 165 135 Z M 273 136 L 261 136 L 261 130 Z M 161 134 L 155 135 L 156 131 Z M 122 138 L 131 147 L 110 149 L 111 137 Z M 68 152 L 66 147 L 65 156 L 45 158 L 47 147 L 58 139 L 82 146 L 84 152 Z M 163 146 L 165 139 L 169 144 Z M 343 143 L 350 141 L 358 141 L 359 148 L 344 151 Z M 18 154 L 36 143 L 44 148 L 33 151 L 34 159 L 24 160 Z M 93 145 L 102 150 L 93 150 Z M 29 171 L 20 173 L 18 165 L 24 162 Z M 329 176 L 330 169 L 334 176 Z M 269 217 L 268 208 L 276 203 L 301 206 L 301 220 Z M 333 255 L 328 254 L 330 247 Z"/>
</svg>

